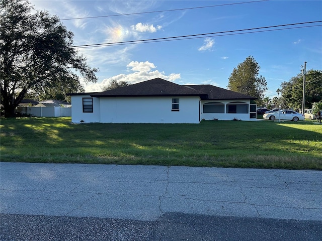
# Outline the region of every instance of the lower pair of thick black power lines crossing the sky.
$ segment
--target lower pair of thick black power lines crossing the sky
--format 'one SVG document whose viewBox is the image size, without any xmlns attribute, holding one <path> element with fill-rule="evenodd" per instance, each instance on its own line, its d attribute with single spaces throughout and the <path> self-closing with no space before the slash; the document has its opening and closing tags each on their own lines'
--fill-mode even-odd
<svg viewBox="0 0 322 241">
<path fill-rule="evenodd" d="M 285 30 L 285 29 L 317 27 L 317 26 L 321 26 L 321 25 L 282 28 L 282 29 L 274 29 L 274 30 L 263 30 L 263 29 L 280 28 L 280 27 L 286 27 L 286 26 L 314 24 L 314 23 L 321 23 L 321 22 L 322 21 L 312 21 L 312 22 L 303 22 L 303 23 L 294 23 L 294 24 L 266 26 L 266 27 L 259 27 L 259 28 L 249 28 L 249 29 L 214 32 L 214 33 L 205 33 L 205 34 L 182 35 L 182 36 L 175 36 L 175 37 L 143 39 L 143 40 L 130 40 L 130 41 L 122 41 L 122 42 L 101 43 L 101 44 L 75 45 L 75 46 L 70 46 L 70 47 L 72 47 L 72 48 L 90 48 L 90 47 L 101 47 L 101 46 L 109 46 L 109 45 L 114 46 L 114 45 L 135 44 L 135 43 L 149 43 L 149 42 L 162 42 L 162 41 L 172 41 L 172 40 L 182 40 L 182 39 L 215 37 L 215 36 L 222 36 L 222 35 L 237 35 L 237 34 L 246 34 L 246 33 L 258 33 L 258 32 L 267 32 L 267 31 Z M 255 31 L 255 30 L 260 30 L 260 31 Z M 246 31 L 252 31 L 252 32 L 246 32 Z M 238 32 L 246 32 L 246 33 L 238 33 Z M 213 35 L 215 35 L 215 36 L 213 36 Z"/>
</svg>

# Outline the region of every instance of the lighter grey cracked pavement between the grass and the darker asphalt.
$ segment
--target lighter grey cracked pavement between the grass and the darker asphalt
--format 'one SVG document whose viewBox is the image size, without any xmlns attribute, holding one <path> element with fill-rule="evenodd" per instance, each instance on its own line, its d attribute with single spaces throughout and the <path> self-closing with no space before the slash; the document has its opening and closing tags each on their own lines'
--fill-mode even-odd
<svg viewBox="0 0 322 241">
<path fill-rule="evenodd" d="M 141 225 L 199 215 L 322 224 L 320 171 L 4 162 L 0 168 L 1 213 L 8 223 L 33 215 Z"/>
</svg>

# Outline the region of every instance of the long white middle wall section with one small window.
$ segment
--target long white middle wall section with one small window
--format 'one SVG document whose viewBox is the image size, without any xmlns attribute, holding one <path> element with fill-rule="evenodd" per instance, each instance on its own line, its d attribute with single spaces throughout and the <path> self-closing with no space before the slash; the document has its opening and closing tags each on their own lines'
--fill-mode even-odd
<svg viewBox="0 0 322 241">
<path fill-rule="evenodd" d="M 171 110 L 172 98 L 179 98 L 179 111 Z M 101 123 L 199 123 L 199 96 L 100 99 Z"/>
</svg>

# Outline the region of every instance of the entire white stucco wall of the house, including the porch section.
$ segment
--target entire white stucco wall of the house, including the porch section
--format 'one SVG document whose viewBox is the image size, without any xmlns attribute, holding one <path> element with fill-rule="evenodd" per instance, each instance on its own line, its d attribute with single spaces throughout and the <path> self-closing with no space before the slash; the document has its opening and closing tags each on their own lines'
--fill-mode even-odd
<svg viewBox="0 0 322 241">
<path fill-rule="evenodd" d="M 202 119 L 256 121 L 248 113 L 226 113 L 233 100 L 216 100 L 224 104 L 224 113 L 203 113 L 203 104 L 213 100 L 200 100 L 198 96 L 170 97 L 93 97 L 93 113 L 83 112 L 83 98 L 71 96 L 73 123 L 199 123 Z M 172 98 L 179 98 L 179 111 L 172 111 Z M 238 100 L 250 104 L 250 100 Z M 199 107 L 200 104 L 200 107 Z M 250 108 L 249 108 L 250 110 Z"/>
</svg>

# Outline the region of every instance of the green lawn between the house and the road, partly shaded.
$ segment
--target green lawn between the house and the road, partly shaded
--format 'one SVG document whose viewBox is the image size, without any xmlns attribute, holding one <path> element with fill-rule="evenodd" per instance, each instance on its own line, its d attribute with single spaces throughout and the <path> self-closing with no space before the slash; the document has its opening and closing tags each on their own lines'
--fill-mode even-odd
<svg viewBox="0 0 322 241">
<path fill-rule="evenodd" d="M 1 119 L 1 161 L 322 170 L 322 125 L 70 124 L 70 118 Z"/>
</svg>

